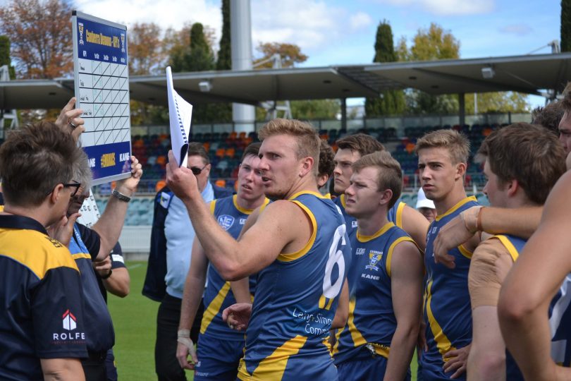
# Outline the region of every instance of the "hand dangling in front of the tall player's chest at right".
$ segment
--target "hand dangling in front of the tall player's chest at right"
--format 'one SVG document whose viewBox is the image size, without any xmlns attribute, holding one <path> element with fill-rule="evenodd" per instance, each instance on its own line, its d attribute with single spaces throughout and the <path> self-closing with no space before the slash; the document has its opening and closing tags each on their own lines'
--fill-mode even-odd
<svg viewBox="0 0 571 381">
<path fill-rule="evenodd" d="M 434 262 L 442 263 L 449 269 L 455 267 L 454 257 L 448 254 L 448 250 L 457 248 L 474 236 L 475 231 L 469 231 L 467 229 L 466 219 L 472 219 L 472 215 L 474 215 L 475 218 L 475 214 L 478 213 L 479 208 L 480 207 L 471 207 L 465 210 L 460 216 L 451 219 L 448 224 L 444 225 L 443 228 L 438 231 L 438 236 L 436 236 L 433 245 Z"/>
</svg>

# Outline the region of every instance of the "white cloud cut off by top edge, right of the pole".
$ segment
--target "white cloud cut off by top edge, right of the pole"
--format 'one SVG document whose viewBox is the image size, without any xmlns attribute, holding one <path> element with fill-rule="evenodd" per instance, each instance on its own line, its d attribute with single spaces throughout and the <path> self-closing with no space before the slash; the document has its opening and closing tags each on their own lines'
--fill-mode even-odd
<svg viewBox="0 0 571 381">
<path fill-rule="evenodd" d="M 495 8 L 495 0 L 379 0 L 393 6 L 420 7 L 438 16 L 477 15 Z"/>
</svg>

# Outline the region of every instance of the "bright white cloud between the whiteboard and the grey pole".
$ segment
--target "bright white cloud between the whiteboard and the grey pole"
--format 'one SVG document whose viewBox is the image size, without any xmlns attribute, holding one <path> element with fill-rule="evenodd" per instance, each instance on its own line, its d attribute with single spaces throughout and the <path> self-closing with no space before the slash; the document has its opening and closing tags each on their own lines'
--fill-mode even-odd
<svg viewBox="0 0 571 381">
<path fill-rule="evenodd" d="M 222 13 L 220 4 L 206 0 L 76 0 L 76 9 L 83 13 L 127 25 L 156 23 L 163 30 L 180 29 L 187 22 L 202 23 L 216 32 L 220 40 Z"/>
</svg>

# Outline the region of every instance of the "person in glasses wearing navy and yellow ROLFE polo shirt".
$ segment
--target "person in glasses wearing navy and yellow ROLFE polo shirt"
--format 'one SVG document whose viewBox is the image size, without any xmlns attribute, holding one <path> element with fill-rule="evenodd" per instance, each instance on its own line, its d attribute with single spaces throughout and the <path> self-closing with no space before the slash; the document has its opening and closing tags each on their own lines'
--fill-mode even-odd
<svg viewBox="0 0 571 381">
<path fill-rule="evenodd" d="M 0 379 L 84 380 L 80 272 L 66 245 L 77 214 L 80 149 L 54 123 L 13 131 L 0 147 Z M 65 223 L 65 224 L 64 224 Z M 56 225 L 56 238 L 46 226 Z"/>
</svg>

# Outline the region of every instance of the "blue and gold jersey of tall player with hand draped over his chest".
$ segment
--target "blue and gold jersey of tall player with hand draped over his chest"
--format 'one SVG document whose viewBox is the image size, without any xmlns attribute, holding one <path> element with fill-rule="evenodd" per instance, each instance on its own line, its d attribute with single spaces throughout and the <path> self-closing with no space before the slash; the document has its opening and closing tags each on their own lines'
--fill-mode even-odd
<svg viewBox="0 0 571 381">
<path fill-rule="evenodd" d="M 455 258 L 455 268 L 434 262 L 433 244 L 438 231 L 460 212 L 479 205 L 474 197 L 464 198 L 446 213 L 437 216 L 426 236 L 424 267 L 424 322 L 428 351 L 422 353 L 424 380 L 448 380 L 443 356 L 472 342 L 472 308 L 468 291 L 468 271 L 472 253 L 462 245 L 448 251 Z M 463 378 L 462 378 L 463 377 Z M 465 379 L 466 374 L 460 376 Z"/>
</svg>

